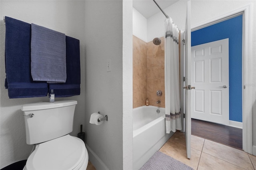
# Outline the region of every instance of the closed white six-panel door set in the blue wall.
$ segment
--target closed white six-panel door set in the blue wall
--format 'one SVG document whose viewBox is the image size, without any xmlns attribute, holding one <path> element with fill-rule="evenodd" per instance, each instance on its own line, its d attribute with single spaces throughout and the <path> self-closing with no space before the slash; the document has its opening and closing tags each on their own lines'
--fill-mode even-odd
<svg viewBox="0 0 256 170">
<path fill-rule="evenodd" d="M 229 125 L 228 38 L 191 47 L 191 118 Z"/>
</svg>

